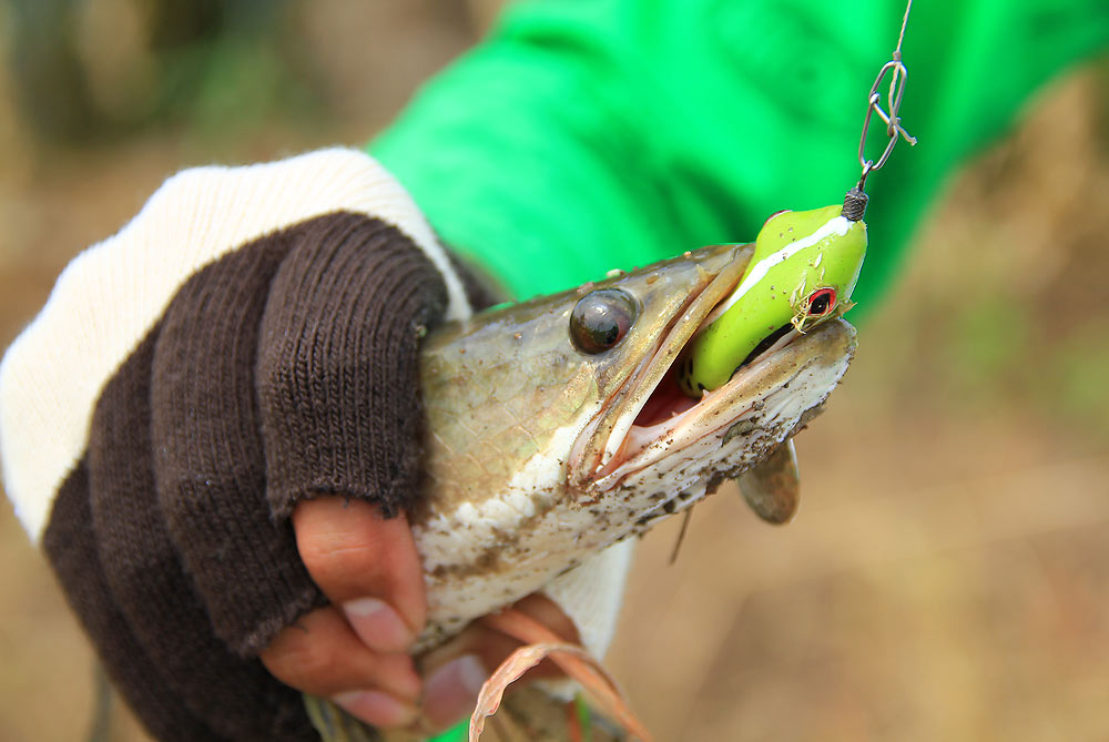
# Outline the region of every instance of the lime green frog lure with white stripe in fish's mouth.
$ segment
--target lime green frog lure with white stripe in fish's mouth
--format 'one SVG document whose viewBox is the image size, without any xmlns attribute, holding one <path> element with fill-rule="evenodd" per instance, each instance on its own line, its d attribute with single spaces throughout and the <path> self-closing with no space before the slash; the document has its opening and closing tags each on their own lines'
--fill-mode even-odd
<svg viewBox="0 0 1109 742">
<path fill-rule="evenodd" d="M 719 388 L 788 334 L 806 333 L 851 307 L 866 255 L 866 224 L 843 206 L 774 214 L 735 291 L 705 318 L 678 363 L 691 397 Z"/>
</svg>

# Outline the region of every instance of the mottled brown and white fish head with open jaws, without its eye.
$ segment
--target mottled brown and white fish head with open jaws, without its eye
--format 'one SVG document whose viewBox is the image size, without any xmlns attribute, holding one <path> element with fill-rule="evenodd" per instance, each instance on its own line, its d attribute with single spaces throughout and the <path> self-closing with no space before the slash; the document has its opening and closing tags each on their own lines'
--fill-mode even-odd
<svg viewBox="0 0 1109 742">
<path fill-rule="evenodd" d="M 704 247 L 425 340 L 428 489 L 411 519 L 429 622 L 417 649 L 684 510 L 816 414 L 854 352 L 842 319 L 760 357 L 680 418 L 632 426 L 751 253 Z M 640 312 L 619 345 L 588 355 L 570 340 L 570 312 L 604 287 Z"/>
</svg>

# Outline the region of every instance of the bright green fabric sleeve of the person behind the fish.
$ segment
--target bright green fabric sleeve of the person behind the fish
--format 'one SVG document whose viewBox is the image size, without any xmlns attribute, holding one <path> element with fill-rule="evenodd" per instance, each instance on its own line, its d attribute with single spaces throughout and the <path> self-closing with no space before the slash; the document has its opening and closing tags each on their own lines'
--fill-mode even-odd
<svg viewBox="0 0 1109 742">
<path fill-rule="evenodd" d="M 517 297 L 702 244 L 858 177 L 903 0 L 532 0 L 370 148 Z M 942 181 L 1045 80 L 1109 43 L 1105 0 L 917 2 L 901 143 L 871 176 L 865 306 Z M 885 138 L 878 122 L 875 154 Z M 872 155 L 873 156 L 873 155 Z"/>
</svg>

